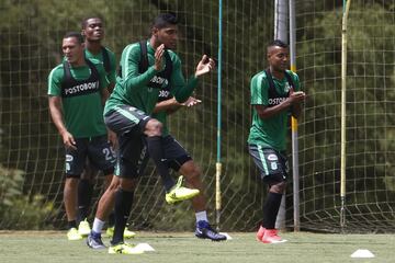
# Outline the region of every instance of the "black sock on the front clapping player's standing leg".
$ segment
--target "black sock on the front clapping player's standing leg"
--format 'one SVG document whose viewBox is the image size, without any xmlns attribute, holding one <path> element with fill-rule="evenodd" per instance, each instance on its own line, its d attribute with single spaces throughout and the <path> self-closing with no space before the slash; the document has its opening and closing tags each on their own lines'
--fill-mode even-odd
<svg viewBox="0 0 395 263">
<path fill-rule="evenodd" d="M 124 241 L 123 233 L 132 210 L 133 197 L 133 191 L 129 192 L 120 188 L 115 193 L 115 228 L 114 236 L 111 241 L 112 244 L 117 244 Z"/>
</svg>

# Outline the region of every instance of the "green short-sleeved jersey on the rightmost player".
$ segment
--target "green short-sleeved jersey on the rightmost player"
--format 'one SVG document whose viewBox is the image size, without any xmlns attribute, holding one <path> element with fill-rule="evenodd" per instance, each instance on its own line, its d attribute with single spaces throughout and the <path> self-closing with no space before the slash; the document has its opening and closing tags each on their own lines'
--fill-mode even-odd
<svg viewBox="0 0 395 263">
<path fill-rule="evenodd" d="M 286 72 L 291 76 L 295 85 L 295 91 L 301 90 L 297 75 L 290 70 Z M 259 145 L 262 147 L 273 148 L 279 151 L 286 149 L 286 130 L 290 111 L 283 111 L 270 118 L 262 119 L 259 117 L 253 105 L 271 106 L 281 103 L 289 96 L 290 84 L 284 77 L 279 80 L 273 76 L 273 82 L 278 98 L 269 95 L 269 80 L 267 73 L 261 71 L 251 79 L 251 105 L 252 105 L 252 125 L 248 137 L 248 144 Z"/>
</svg>

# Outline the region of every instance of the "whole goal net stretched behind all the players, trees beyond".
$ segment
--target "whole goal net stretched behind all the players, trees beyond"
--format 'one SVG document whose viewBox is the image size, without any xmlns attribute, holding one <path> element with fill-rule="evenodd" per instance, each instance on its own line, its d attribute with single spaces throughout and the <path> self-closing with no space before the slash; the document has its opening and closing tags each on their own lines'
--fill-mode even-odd
<svg viewBox="0 0 395 263">
<path fill-rule="evenodd" d="M 250 78 L 267 67 L 274 1 L 223 1 L 222 210 L 225 230 L 255 230 L 267 188 L 247 151 Z M 301 227 L 339 231 L 339 1 L 296 0 L 296 66 L 308 98 L 300 121 Z M 395 2 L 353 0 L 349 16 L 347 85 L 347 229 L 395 230 Z M 1 1 L 0 229 L 63 228 L 64 148 L 48 114 L 47 76 L 61 61 L 61 37 L 90 15 L 104 19 L 103 44 L 123 48 L 149 37 L 166 11 L 180 20 L 177 53 L 184 76 L 203 54 L 217 58 L 218 2 L 210 0 Z M 203 172 L 207 211 L 215 222 L 216 72 L 200 80 L 202 104 L 170 116 L 169 130 Z M 291 138 L 291 136 L 290 136 Z M 291 150 L 289 151 L 291 152 Z M 291 156 L 290 156 L 291 160 Z M 174 173 L 174 176 L 178 174 Z M 90 220 L 102 193 L 98 178 Z M 292 227 L 292 178 L 286 226 Z M 136 190 L 133 229 L 191 230 L 190 202 L 167 205 L 149 164 Z"/>
</svg>

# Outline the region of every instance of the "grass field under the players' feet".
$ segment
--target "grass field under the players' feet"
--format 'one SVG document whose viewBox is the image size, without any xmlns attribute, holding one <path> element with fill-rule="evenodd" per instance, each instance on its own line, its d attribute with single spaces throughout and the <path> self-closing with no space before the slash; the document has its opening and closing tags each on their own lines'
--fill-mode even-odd
<svg viewBox="0 0 395 263">
<path fill-rule="evenodd" d="M 83 241 L 67 241 L 65 232 L 0 232 L 2 263 L 249 263 L 249 262 L 395 262 L 395 235 L 323 235 L 285 232 L 281 244 L 263 244 L 255 233 L 232 232 L 232 240 L 211 242 L 185 232 L 138 232 L 135 243 L 149 243 L 156 251 L 142 255 L 93 251 Z M 104 238 L 104 243 L 109 239 Z M 370 250 L 373 259 L 352 259 L 358 249 Z"/>
</svg>

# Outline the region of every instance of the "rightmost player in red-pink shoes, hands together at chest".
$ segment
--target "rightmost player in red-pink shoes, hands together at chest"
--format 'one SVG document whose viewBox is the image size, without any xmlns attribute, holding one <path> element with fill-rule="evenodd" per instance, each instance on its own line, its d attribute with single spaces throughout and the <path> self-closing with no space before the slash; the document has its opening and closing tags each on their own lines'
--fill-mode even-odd
<svg viewBox="0 0 395 263">
<path fill-rule="evenodd" d="M 286 241 L 278 236 L 274 227 L 287 175 L 286 125 L 290 114 L 300 116 L 306 95 L 300 91 L 297 75 L 286 70 L 286 44 L 278 39 L 270 43 L 267 58 L 269 68 L 251 79 L 252 125 L 248 148 L 262 181 L 269 186 L 257 239 L 263 243 L 280 243 Z"/>
</svg>

